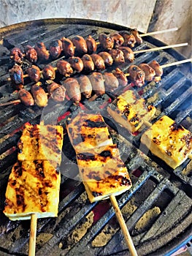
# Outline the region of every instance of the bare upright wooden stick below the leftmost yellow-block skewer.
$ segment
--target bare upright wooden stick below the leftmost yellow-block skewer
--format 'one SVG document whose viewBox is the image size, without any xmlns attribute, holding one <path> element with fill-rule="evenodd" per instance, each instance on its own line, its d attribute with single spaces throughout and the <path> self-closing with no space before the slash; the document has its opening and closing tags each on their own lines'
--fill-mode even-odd
<svg viewBox="0 0 192 256">
<path fill-rule="evenodd" d="M 28 256 L 35 256 L 36 235 L 37 235 L 37 214 L 31 214 Z"/>
</svg>

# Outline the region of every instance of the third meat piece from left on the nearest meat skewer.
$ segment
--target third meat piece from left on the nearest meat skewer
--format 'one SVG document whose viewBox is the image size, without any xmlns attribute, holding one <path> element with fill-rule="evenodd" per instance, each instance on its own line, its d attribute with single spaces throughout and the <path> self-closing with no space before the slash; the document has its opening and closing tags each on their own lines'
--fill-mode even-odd
<svg viewBox="0 0 192 256">
<path fill-rule="evenodd" d="M 55 102 L 63 102 L 65 100 L 66 89 L 64 86 L 53 82 L 47 86 L 47 91 Z"/>
</svg>

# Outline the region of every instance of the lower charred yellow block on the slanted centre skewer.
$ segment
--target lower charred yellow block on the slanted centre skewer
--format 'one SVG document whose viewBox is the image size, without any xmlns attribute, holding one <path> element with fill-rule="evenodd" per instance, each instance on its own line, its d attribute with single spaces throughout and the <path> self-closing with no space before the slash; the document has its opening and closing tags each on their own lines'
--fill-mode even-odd
<svg viewBox="0 0 192 256">
<path fill-rule="evenodd" d="M 115 144 L 106 146 L 100 154 L 77 154 L 77 164 L 91 203 L 120 195 L 131 187 L 128 170 Z"/>
</svg>

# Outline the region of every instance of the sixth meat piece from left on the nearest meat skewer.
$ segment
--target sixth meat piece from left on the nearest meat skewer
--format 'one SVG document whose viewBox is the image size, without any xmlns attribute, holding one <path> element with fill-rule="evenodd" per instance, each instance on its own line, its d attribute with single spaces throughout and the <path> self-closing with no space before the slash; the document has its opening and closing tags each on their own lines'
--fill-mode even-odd
<svg viewBox="0 0 192 256">
<path fill-rule="evenodd" d="M 105 93 L 104 78 L 99 72 L 93 72 L 89 79 L 91 80 L 91 86 L 97 96 L 101 96 Z"/>
</svg>

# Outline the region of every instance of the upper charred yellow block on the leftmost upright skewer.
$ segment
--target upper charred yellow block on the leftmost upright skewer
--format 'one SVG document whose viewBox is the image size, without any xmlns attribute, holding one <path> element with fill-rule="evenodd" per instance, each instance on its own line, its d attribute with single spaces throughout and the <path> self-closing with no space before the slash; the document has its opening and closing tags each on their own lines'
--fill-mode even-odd
<svg viewBox="0 0 192 256">
<path fill-rule="evenodd" d="M 48 160 L 61 164 L 63 127 L 26 123 L 18 142 L 18 161 Z"/>
</svg>

